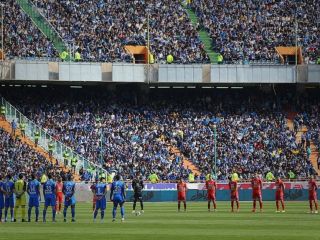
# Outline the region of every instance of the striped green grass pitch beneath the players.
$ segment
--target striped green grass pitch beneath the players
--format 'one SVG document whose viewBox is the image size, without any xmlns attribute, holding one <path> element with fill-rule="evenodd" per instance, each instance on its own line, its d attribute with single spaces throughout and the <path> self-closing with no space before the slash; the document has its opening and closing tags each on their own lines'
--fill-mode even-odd
<svg viewBox="0 0 320 240">
<path fill-rule="evenodd" d="M 119 209 L 117 221 L 111 222 L 110 203 L 104 223 L 98 219 L 93 223 L 89 203 L 77 204 L 76 223 L 70 222 L 70 209 L 67 223 L 62 222 L 62 215 L 52 223 L 49 210 L 46 223 L 1 223 L 0 239 L 320 239 L 320 215 L 307 214 L 307 202 L 287 202 L 286 213 L 275 213 L 274 202 L 265 202 L 263 213 L 251 213 L 249 202 L 241 202 L 239 213 L 230 213 L 228 202 L 218 202 L 217 212 L 207 212 L 205 202 L 189 202 L 186 213 L 178 213 L 176 203 L 145 203 L 141 216 L 131 214 L 131 203 L 125 207 L 124 223 L 120 221 Z"/>
</svg>

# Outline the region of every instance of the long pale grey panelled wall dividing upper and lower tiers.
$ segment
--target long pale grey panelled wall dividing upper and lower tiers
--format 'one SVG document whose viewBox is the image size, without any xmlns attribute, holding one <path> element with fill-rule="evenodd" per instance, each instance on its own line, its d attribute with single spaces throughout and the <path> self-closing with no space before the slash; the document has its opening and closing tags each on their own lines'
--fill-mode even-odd
<svg viewBox="0 0 320 240">
<path fill-rule="evenodd" d="M 181 65 L 3 61 L 4 80 L 173 84 L 320 83 L 320 65 Z"/>
</svg>

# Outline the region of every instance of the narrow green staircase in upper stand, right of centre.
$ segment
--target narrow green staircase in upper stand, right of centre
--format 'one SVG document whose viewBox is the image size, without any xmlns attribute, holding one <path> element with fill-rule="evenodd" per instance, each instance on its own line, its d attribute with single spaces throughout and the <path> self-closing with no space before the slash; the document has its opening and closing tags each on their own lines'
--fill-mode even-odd
<svg viewBox="0 0 320 240">
<path fill-rule="evenodd" d="M 196 13 L 192 9 L 188 8 L 186 5 L 183 5 L 183 7 L 187 11 L 192 25 L 196 27 L 197 24 L 199 23 L 199 20 L 198 20 Z M 204 50 L 207 52 L 207 54 L 210 58 L 210 62 L 211 63 L 218 63 L 219 53 L 216 53 L 212 50 L 212 47 L 211 47 L 212 39 L 210 38 L 208 32 L 205 31 L 204 29 L 200 29 L 200 30 L 198 30 L 198 33 L 200 36 L 200 40 L 202 41 L 202 43 L 204 45 Z"/>
</svg>

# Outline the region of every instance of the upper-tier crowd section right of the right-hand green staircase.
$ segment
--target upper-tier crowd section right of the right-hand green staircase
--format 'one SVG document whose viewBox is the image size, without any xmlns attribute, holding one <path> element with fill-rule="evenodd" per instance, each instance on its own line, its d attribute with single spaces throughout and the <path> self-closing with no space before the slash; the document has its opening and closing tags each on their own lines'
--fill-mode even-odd
<svg viewBox="0 0 320 240">
<path fill-rule="evenodd" d="M 275 47 L 298 45 L 307 62 L 320 56 L 318 0 L 192 0 L 191 8 L 225 62 L 277 62 Z"/>
</svg>

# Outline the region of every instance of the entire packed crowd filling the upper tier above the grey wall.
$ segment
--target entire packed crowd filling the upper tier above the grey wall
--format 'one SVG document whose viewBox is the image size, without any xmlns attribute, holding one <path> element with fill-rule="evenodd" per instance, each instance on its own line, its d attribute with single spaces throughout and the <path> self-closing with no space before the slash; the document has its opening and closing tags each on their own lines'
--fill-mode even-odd
<svg viewBox="0 0 320 240">
<path fill-rule="evenodd" d="M 179 0 L 32 2 L 85 61 L 131 62 L 124 46 L 147 45 L 149 16 L 150 49 L 157 62 L 166 62 L 168 55 L 175 63 L 209 62 Z M 295 46 L 296 40 L 306 63 L 320 56 L 317 0 L 193 0 L 189 6 L 225 63 L 279 62 L 275 47 Z M 15 0 L 6 1 L 4 14 L 6 56 L 58 57 Z"/>
</svg>

